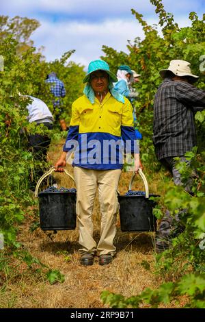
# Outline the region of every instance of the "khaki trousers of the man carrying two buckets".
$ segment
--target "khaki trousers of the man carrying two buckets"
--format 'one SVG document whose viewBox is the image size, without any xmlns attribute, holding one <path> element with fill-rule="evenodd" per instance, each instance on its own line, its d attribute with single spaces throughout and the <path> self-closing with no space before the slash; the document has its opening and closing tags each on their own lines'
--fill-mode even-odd
<svg viewBox="0 0 205 322">
<path fill-rule="evenodd" d="M 79 223 L 79 244 L 81 253 L 98 253 L 98 255 L 115 253 L 113 239 L 116 233 L 116 215 L 118 213 L 118 196 L 116 189 L 121 170 L 93 170 L 74 167 L 74 179 L 77 186 L 77 220 Z M 98 245 L 93 238 L 92 211 L 96 188 L 100 201 L 101 225 Z"/>
</svg>

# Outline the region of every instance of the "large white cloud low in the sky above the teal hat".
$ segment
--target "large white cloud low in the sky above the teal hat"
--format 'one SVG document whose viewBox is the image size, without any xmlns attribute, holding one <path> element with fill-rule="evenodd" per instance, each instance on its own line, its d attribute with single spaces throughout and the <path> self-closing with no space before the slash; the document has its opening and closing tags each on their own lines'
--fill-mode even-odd
<svg viewBox="0 0 205 322">
<path fill-rule="evenodd" d="M 148 24 L 156 24 L 157 19 L 148 20 Z M 181 18 L 180 26 L 190 24 L 189 19 Z M 107 45 L 118 51 L 126 51 L 127 40 L 136 37 L 143 38 L 141 25 L 133 17 L 131 20 L 112 20 L 102 23 L 61 22 L 51 23 L 42 21 L 40 28 L 33 34 L 35 45 L 44 45 L 46 60 L 51 61 L 60 58 L 70 49 L 75 49 L 70 60 L 87 67 L 91 60 L 98 59 L 102 55 L 102 45 Z"/>
</svg>

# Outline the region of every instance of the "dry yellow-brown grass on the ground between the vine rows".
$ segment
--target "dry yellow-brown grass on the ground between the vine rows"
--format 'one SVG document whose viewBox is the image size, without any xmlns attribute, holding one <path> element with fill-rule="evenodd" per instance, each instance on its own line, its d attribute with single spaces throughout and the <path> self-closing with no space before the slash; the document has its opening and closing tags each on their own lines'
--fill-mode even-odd
<svg viewBox="0 0 205 322">
<path fill-rule="evenodd" d="M 61 151 L 61 144 L 55 145 L 49 153 L 51 163 L 54 164 Z M 72 173 L 72 167 L 68 166 Z M 61 180 L 60 186 L 71 187 L 72 181 L 65 174 L 56 174 Z M 120 193 L 125 193 L 131 173 L 122 173 L 120 179 Z M 139 180 L 136 183 L 138 190 L 143 189 Z M 156 185 L 152 185 L 152 193 L 156 193 Z M 137 295 L 146 287 L 155 288 L 161 282 L 151 271 L 141 266 L 141 262 L 154 262 L 153 233 L 122 233 L 118 219 L 118 233 L 115 238 L 117 256 L 112 264 L 105 267 L 98 265 L 95 259 L 92 267 L 79 265 L 78 232 L 59 231 L 53 234 L 53 240 L 48 232 L 44 233 L 40 228 L 31 232 L 32 219 L 27 216 L 24 225 L 20 229 L 18 239 L 26 249 L 41 262 L 59 269 L 66 277 L 62 284 L 50 285 L 40 277 L 32 273 L 22 273 L 13 284 L 9 284 L 4 293 L 2 307 L 14 308 L 103 308 L 100 301 L 102 290 L 113 293 L 121 293 L 129 297 Z M 98 201 L 94 207 L 95 238 L 99 238 L 100 210 Z M 23 272 L 23 271 L 22 271 Z M 171 306 L 174 307 L 174 306 Z"/>
</svg>

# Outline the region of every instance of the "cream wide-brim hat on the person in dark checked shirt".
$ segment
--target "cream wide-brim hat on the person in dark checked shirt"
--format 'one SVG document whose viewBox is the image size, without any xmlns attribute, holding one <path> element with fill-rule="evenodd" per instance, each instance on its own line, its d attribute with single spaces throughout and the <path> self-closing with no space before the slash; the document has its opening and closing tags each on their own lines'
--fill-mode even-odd
<svg viewBox="0 0 205 322">
<path fill-rule="evenodd" d="M 196 82 L 199 76 L 193 75 L 189 66 L 190 63 L 186 62 L 186 60 L 171 60 L 168 69 L 162 69 L 159 73 L 161 77 L 165 78 L 167 72 L 172 71 L 172 73 L 176 76 L 193 77 L 193 81 Z"/>
</svg>

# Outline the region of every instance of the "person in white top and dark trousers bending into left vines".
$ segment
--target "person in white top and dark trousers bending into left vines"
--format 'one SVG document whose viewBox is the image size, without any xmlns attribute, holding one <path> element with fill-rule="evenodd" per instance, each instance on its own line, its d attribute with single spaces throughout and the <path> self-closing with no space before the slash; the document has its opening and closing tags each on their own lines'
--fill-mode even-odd
<svg viewBox="0 0 205 322">
<path fill-rule="evenodd" d="M 48 106 L 41 99 L 32 97 L 29 95 L 20 95 L 22 97 L 29 97 L 31 103 L 27 105 L 27 110 L 29 115 L 27 120 L 29 123 L 35 122 L 37 125 L 43 124 L 48 129 L 53 129 L 53 115 L 51 114 Z M 47 152 L 49 150 L 49 145 L 51 143 L 51 138 L 48 135 L 42 134 L 29 134 L 28 136 L 28 149 L 33 153 L 34 160 L 39 160 L 46 162 Z M 38 179 L 44 174 L 43 169 L 35 169 L 34 177 L 30 177 L 30 190 L 35 190 Z M 55 184 L 55 179 L 49 177 L 50 183 Z"/>
</svg>

